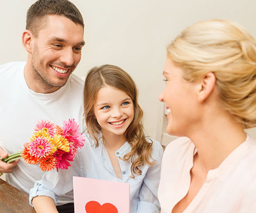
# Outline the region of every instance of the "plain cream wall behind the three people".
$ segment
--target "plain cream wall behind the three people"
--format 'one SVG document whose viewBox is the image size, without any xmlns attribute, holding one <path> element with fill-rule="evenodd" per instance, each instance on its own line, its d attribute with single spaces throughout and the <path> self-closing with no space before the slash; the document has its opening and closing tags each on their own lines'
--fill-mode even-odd
<svg viewBox="0 0 256 213">
<path fill-rule="evenodd" d="M 163 89 L 166 46 L 184 28 L 205 19 L 234 20 L 256 37 L 254 0 L 71 0 L 85 21 L 86 45 L 76 74 L 105 63 L 127 71 L 137 83 L 145 129 L 155 137 Z M 26 60 L 20 37 L 34 0 L 2 1 L 0 64 Z"/>
</svg>

